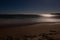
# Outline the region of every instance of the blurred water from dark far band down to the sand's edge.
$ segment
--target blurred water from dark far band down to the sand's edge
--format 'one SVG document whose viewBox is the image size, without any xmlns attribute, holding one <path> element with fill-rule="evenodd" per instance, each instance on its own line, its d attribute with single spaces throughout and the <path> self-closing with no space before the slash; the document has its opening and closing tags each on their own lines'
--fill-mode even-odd
<svg viewBox="0 0 60 40">
<path fill-rule="evenodd" d="M 24 24 L 60 24 L 60 19 L 39 17 L 39 18 L 24 18 L 24 19 L 0 19 L 0 26 L 3 25 L 24 25 Z"/>
</svg>

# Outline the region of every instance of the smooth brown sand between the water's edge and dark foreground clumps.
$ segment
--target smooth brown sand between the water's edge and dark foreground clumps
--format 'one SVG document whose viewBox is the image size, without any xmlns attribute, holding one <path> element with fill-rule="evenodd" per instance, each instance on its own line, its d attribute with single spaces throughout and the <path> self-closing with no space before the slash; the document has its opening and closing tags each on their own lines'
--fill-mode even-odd
<svg viewBox="0 0 60 40">
<path fill-rule="evenodd" d="M 40 33 L 49 33 L 50 30 L 56 31 L 54 38 L 60 38 L 60 24 L 32 24 L 15 27 L 0 28 L 0 36 L 7 35 L 19 36 L 22 38 L 25 34 L 39 35 Z M 58 39 L 59 40 L 59 39 Z"/>
</svg>

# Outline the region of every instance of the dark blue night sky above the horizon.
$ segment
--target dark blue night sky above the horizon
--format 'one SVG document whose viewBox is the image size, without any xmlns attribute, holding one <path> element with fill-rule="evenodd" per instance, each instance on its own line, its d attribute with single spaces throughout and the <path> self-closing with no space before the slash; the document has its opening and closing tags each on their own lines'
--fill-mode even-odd
<svg viewBox="0 0 60 40">
<path fill-rule="evenodd" d="M 0 13 L 60 11 L 60 0 L 0 0 Z"/>
</svg>

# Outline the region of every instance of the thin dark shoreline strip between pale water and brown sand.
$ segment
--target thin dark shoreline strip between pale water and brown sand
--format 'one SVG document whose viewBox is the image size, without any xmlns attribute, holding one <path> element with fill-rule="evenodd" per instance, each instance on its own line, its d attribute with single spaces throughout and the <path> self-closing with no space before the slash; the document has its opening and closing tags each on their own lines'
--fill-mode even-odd
<svg viewBox="0 0 60 40">
<path fill-rule="evenodd" d="M 20 27 L 20 26 L 29 26 L 35 24 L 55 24 L 60 22 L 35 22 L 35 23 L 24 23 L 24 24 L 0 24 L 0 28 L 9 28 L 9 27 Z"/>
</svg>

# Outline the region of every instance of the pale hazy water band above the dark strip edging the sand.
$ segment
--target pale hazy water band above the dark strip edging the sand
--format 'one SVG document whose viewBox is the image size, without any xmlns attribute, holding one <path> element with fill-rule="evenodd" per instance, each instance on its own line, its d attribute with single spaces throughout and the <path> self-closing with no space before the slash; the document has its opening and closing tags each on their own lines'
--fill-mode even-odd
<svg viewBox="0 0 60 40">
<path fill-rule="evenodd" d="M 0 19 L 0 24 L 27 24 L 38 22 L 60 22 L 60 19 L 39 17 L 39 18 L 25 18 L 25 19 Z"/>
</svg>

